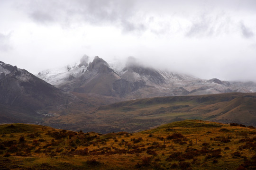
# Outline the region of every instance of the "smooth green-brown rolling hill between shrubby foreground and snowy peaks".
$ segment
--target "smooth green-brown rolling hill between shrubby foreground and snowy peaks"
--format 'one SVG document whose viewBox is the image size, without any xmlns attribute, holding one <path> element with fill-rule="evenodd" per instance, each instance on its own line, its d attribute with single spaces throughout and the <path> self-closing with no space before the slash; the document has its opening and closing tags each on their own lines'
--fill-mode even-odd
<svg viewBox="0 0 256 170">
<path fill-rule="evenodd" d="M 44 123 L 52 127 L 110 133 L 141 131 L 183 119 L 256 126 L 256 93 L 137 99 L 101 106 L 69 117 L 68 121 L 66 116 L 47 118 Z"/>
</svg>

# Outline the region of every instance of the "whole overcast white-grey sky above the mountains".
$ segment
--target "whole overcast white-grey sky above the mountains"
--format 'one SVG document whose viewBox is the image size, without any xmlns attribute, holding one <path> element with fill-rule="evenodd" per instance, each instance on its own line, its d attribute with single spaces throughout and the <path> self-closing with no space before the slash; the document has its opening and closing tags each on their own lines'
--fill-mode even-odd
<svg viewBox="0 0 256 170">
<path fill-rule="evenodd" d="M 0 0 L 0 61 L 33 74 L 128 57 L 203 79 L 256 81 L 256 0 Z"/>
</svg>

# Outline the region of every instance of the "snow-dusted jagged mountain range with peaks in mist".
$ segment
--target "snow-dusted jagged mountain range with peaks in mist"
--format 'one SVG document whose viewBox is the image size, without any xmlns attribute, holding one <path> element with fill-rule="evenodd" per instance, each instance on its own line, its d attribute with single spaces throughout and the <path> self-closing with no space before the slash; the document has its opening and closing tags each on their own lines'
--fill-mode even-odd
<svg viewBox="0 0 256 170">
<path fill-rule="evenodd" d="M 204 80 L 148 67 L 146 62 L 138 61 L 134 57 L 128 57 L 126 63 L 119 63 L 119 67 L 115 63 L 111 63 L 111 67 L 98 56 L 88 66 L 84 64 L 87 61 L 88 56 L 85 55 L 79 65 L 45 70 L 37 76 L 65 91 L 96 93 L 127 99 L 256 92 L 256 83 L 253 82 L 229 82 L 217 78 Z"/>
</svg>

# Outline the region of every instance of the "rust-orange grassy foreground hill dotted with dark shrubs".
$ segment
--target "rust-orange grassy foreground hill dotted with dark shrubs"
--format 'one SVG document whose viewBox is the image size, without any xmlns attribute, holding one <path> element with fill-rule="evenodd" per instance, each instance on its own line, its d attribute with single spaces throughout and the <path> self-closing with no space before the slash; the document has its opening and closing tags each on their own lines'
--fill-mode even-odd
<svg viewBox="0 0 256 170">
<path fill-rule="evenodd" d="M 255 170 L 256 129 L 185 120 L 137 133 L 0 125 L 1 170 Z"/>
</svg>

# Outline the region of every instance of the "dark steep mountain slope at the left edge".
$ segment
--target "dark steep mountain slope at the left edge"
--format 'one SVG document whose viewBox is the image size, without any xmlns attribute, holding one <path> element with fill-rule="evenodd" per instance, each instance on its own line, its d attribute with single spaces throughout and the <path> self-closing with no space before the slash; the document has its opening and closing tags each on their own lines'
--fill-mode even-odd
<svg viewBox="0 0 256 170">
<path fill-rule="evenodd" d="M 46 110 L 65 107 L 73 96 L 25 69 L 0 62 L 1 122 L 35 122 Z"/>
</svg>

